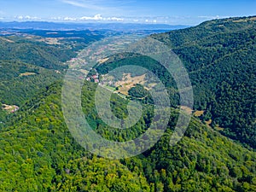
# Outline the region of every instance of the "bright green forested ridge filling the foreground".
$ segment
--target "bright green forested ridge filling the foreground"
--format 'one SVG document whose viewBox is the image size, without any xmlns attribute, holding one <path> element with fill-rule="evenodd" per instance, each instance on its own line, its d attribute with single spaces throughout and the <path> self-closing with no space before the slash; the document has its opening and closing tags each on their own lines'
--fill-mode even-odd
<svg viewBox="0 0 256 192">
<path fill-rule="evenodd" d="M 84 113 L 99 123 L 96 131 L 103 137 L 122 139 L 97 118 L 92 107 L 95 89 L 96 84 L 84 84 Z M 115 113 L 124 115 L 119 112 L 125 110 L 126 101 L 114 96 L 112 102 Z M 150 122 L 148 118 L 141 127 Z M 171 147 L 176 118 L 174 110 L 166 134 L 144 154 L 104 160 L 73 140 L 61 113 L 61 84 L 53 84 L 27 102 L 1 129 L 0 190 L 255 191 L 255 152 L 197 119 L 192 119 L 182 141 Z M 137 130 L 131 131 L 137 134 Z"/>
</svg>

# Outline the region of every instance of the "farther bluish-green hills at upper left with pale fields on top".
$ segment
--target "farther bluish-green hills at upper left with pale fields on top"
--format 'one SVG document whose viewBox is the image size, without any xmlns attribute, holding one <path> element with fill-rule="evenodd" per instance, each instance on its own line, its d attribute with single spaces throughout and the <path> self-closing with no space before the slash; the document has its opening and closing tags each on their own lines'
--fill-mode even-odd
<svg viewBox="0 0 256 192">
<path fill-rule="evenodd" d="M 63 62 L 75 57 L 79 49 L 102 38 L 103 34 L 44 30 L 10 32 L 9 36 L 0 37 L 0 58 L 49 69 L 67 69 Z"/>
</svg>

